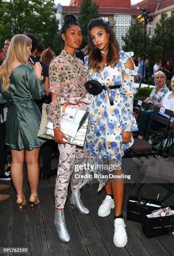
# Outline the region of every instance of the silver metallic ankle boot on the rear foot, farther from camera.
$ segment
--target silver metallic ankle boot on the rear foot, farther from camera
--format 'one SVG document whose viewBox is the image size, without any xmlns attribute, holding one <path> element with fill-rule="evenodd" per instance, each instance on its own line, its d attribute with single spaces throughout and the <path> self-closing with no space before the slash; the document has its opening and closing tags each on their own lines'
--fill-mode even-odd
<svg viewBox="0 0 174 256">
<path fill-rule="evenodd" d="M 80 199 L 80 189 L 73 189 L 72 194 L 70 197 L 70 202 L 72 205 L 75 205 L 77 209 L 80 211 L 82 214 L 89 214 L 89 210 L 85 205 L 83 205 L 81 199 Z"/>
</svg>

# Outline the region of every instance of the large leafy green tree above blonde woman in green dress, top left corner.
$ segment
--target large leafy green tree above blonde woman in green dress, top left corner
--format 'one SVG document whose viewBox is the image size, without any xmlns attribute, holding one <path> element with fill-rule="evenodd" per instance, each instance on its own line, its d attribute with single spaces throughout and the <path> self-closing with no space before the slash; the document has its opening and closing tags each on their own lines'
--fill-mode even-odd
<svg viewBox="0 0 174 256">
<path fill-rule="evenodd" d="M 30 32 L 50 46 L 50 38 L 53 43 L 59 35 L 53 5 L 54 0 L 0 0 L 0 41 Z"/>
</svg>

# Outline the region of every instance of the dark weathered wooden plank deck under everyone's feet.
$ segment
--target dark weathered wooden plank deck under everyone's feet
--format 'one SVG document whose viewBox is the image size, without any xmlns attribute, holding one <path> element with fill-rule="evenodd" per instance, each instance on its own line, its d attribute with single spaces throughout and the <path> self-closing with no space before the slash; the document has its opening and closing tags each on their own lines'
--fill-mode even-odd
<svg viewBox="0 0 174 256">
<path fill-rule="evenodd" d="M 30 190 L 25 177 L 25 196 L 28 200 Z M 71 241 L 63 243 L 57 237 L 54 224 L 55 177 L 40 181 L 40 205 L 30 210 L 27 203 L 23 212 L 15 202 L 13 187 L 2 194 L 10 194 L 8 200 L 0 202 L 0 247 L 29 247 L 31 256 L 168 256 L 174 255 L 174 236 L 160 236 L 147 239 L 141 230 L 141 224 L 126 220 L 127 198 L 134 191 L 125 186 L 124 220 L 127 225 L 128 243 L 124 248 L 117 248 L 113 243 L 114 209 L 106 218 L 98 217 L 97 210 L 105 197 L 104 192 L 97 195 L 97 184 L 87 185 L 82 189 L 82 200 L 89 208 L 89 215 L 80 214 L 70 207 L 70 189 L 65 207 L 65 220 Z M 141 189 L 142 197 L 162 196 L 166 190 L 159 185 L 146 184 Z M 164 201 L 165 205 L 174 204 L 174 194 Z M 5 255 L 5 254 L 3 254 Z M 7 255 L 7 254 L 6 254 Z M 14 254 L 12 254 L 14 255 Z M 26 255 L 26 254 L 20 254 Z"/>
</svg>

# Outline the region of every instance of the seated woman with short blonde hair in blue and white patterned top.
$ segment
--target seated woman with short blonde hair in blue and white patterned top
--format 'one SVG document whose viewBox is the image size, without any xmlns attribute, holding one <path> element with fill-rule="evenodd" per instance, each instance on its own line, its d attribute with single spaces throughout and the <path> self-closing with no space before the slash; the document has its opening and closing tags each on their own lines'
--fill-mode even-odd
<svg viewBox="0 0 174 256">
<path fill-rule="evenodd" d="M 144 102 L 151 102 L 154 105 L 159 106 L 164 96 L 169 92 L 169 88 L 166 86 L 166 75 L 162 71 L 158 71 L 154 76 L 155 87 L 153 88 L 150 97 L 147 97 Z"/>
</svg>

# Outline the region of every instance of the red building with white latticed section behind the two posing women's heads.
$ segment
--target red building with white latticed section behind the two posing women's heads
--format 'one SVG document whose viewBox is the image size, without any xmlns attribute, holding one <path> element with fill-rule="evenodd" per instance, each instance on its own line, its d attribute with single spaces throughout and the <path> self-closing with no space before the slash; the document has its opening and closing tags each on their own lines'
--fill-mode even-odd
<svg viewBox="0 0 174 256">
<path fill-rule="evenodd" d="M 134 22 L 141 11 L 132 8 L 130 0 L 95 0 L 95 2 L 99 5 L 98 11 L 101 13 L 101 18 L 112 27 L 122 48 L 124 45 L 122 37 L 126 35 L 131 23 Z M 73 13 L 78 18 L 81 3 L 82 0 L 71 0 L 69 6 L 61 6 L 60 4 L 55 6 L 55 13 L 60 19 L 60 28 L 67 13 Z"/>
</svg>

